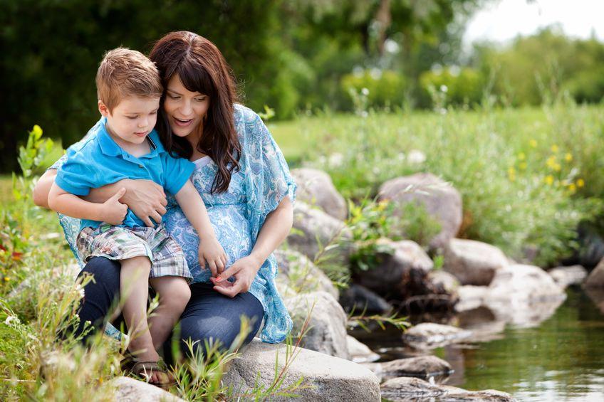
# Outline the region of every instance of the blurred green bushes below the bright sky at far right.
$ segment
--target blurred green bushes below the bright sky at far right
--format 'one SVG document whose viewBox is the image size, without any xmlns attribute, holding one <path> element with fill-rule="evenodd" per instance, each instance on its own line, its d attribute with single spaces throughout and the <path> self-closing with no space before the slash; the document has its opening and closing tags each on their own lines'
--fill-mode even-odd
<svg viewBox="0 0 604 402">
<path fill-rule="evenodd" d="M 483 77 L 494 78 L 494 94 L 512 105 L 551 102 L 564 90 L 578 102 L 604 95 L 604 43 L 595 38 L 568 38 L 553 26 L 503 49 L 477 46 L 475 53 Z"/>
</svg>

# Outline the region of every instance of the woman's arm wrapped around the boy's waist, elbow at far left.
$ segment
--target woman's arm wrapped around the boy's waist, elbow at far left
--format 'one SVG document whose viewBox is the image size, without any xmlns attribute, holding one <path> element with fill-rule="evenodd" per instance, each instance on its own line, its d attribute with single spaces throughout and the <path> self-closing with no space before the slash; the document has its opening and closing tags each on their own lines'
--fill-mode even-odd
<svg viewBox="0 0 604 402">
<path fill-rule="evenodd" d="M 38 179 L 36 186 L 33 187 L 33 203 L 37 206 L 50 208 L 48 206 L 48 193 L 51 191 L 56 174 L 56 169 L 48 169 Z M 151 219 L 157 223 L 162 221 L 162 215 L 166 213 L 166 196 L 162 186 L 151 180 L 123 179 L 98 189 L 92 189 L 90 194 L 83 198 L 93 203 L 104 203 L 121 188 L 125 188 L 126 193 L 122 196 L 120 202 L 125 203 L 130 211 L 145 222 L 145 225 L 155 226 Z"/>
</svg>

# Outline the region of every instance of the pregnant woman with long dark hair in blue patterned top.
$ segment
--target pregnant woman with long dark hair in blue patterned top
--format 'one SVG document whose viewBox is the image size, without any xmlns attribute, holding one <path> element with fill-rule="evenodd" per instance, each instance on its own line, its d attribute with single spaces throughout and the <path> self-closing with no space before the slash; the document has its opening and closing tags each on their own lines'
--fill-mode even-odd
<svg viewBox="0 0 604 402">
<path fill-rule="evenodd" d="M 182 245 L 194 282 L 180 339 L 200 341 L 196 347 L 210 339 L 229 347 L 239 334 L 240 317 L 246 316 L 252 328 L 244 344 L 251 342 L 263 318 L 261 339 L 281 342 L 291 318 L 276 290 L 271 253 L 291 229 L 296 189 L 283 154 L 258 115 L 236 104 L 233 76 L 212 42 L 187 31 L 168 33 L 155 44 L 150 59 L 165 86 L 156 128 L 167 149 L 197 164 L 191 179 L 227 252 L 228 268 L 214 278 L 199 267 L 197 234 L 173 197 L 165 197 L 151 181 L 118 181 L 91 191 L 88 200 L 104 202 L 125 187 L 120 201 L 147 226 L 151 219 L 164 221 Z M 36 184 L 33 198 L 39 206 L 48 206 L 48 189 L 60 163 Z M 61 216 L 61 225 L 74 249 L 78 221 Z M 120 265 L 93 258 L 83 273 L 93 274 L 95 282 L 85 288 L 80 320 L 103 328 L 118 298 Z"/>
</svg>

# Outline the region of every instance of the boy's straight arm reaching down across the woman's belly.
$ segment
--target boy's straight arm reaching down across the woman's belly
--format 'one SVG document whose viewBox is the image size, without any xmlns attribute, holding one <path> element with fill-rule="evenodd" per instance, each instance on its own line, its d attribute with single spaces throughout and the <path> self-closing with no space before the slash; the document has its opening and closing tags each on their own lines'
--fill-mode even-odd
<svg viewBox="0 0 604 402">
<path fill-rule="evenodd" d="M 199 236 L 199 265 L 203 268 L 207 261 L 212 276 L 222 273 L 227 264 L 227 255 L 218 243 L 206 206 L 190 180 L 175 194 L 178 205 L 187 216 Z"/>
</svg>

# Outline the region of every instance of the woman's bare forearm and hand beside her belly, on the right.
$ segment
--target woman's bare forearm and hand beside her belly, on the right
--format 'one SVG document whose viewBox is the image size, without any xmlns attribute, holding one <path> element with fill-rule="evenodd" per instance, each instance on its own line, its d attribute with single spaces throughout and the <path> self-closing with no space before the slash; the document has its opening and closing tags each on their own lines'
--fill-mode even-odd
<svg viewBox="0 0 604 402">
<path fill-rule="evenodd" d="M 214 290 L 229 297 L 247 292 L 266 258 L 269 258 L 269 255 L 287 237 L 292 224 L 293 205 L 289 197 L 286 196 L 277 208 L 266 216 L 251 253 L 236 260 L 219 277 L 215 279 L 210 277 L 210 280 L 214 283 Z M 231 276 L 235 277 L 235 282 L 227 280 Z"/>
</svg>

